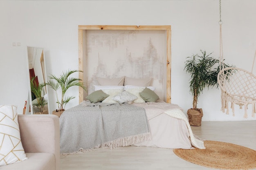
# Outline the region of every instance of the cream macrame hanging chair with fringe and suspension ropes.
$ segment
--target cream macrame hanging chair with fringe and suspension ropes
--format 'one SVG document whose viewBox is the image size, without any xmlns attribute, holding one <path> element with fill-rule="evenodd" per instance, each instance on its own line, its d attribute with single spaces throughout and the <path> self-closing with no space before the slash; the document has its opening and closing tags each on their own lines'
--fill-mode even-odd
<svg viewBox="0 0 256 170">
<path fill-rule="evenodd" d="M 221 20 L 221 0 L 220 0 L 220 72 L 218 73 L 218 86 L 221 89 L 221 110 L 223 113 L 229 114 L 229 103 L 232 109 L 233 116 L 234 104 L 238 104 L 240 109 L 244 106 L 245 113 L 244 118 L 247 118 L 248 105 L 252 104 L 252 117 L 255 117 L 256 113 L 256 76 L 252 74 L 254 62 L 252 65 L 252 71 L 246 71 L 237 67 L 224 68 L 223 62 L 223 50 L 222 50 L 222 20 Z M 254 60 L 256 51 L 254 54 Z"/>
</svg>

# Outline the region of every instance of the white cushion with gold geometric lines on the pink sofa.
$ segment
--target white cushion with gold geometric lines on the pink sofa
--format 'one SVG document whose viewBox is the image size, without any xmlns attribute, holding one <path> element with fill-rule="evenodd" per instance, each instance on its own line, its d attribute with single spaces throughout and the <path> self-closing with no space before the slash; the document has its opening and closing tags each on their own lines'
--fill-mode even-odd
<svg viewBox="0 0 256 170">
<path fill-rule="evenodd" d="M 0 106 L 0 166 L 26 160 L 20 140 L 17 107 Z"/>
</svg>

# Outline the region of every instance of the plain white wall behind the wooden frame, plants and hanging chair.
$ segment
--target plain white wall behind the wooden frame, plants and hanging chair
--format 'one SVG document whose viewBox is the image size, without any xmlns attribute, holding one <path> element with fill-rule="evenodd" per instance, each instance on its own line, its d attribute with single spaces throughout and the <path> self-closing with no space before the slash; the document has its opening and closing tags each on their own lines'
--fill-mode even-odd
<svg viewBox="0 0 256 170">
<path fill-rule="evenodd" d="M 251 70 L 256 49 L 256 1 L 222 0 L 222 33 L 226 62 Z M 218 0 L 126 0 L 126 1 L 25 1 L 0 0 L 0 105 L 18 105 L 19 113 L 28 95 L 26 46 L 43 47 L 47 75 L 78 69 L 78 25 L 171 25 L 172 102 L 192 106 L 186 57 L 214 52 L 219 56 Z M 21 46 L 12 46 L 20 42 Z M 51 92 L 50 92 L 51 93 Z M 66 108 L 78 104 L 76 96 Z M 50 94 L 50 110 L 56 109 Z M 203 121 L 255 120 L 220 112 L 220 90 L 205 89 L 199 97 Z"/>
</svg>

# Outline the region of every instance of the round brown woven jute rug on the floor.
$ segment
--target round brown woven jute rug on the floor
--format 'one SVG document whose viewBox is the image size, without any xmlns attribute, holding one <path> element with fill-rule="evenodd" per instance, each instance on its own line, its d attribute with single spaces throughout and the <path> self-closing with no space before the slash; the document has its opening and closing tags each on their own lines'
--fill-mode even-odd
<svg viewBox="0 0 256 170">
<path fill-rule="evenodd" d="M 206 149 L 174 149 L 180 158 L 222 170 L 249 170 L 256 168 L 256 150 L 219 141 L 204 141 Z"/>
</svg>

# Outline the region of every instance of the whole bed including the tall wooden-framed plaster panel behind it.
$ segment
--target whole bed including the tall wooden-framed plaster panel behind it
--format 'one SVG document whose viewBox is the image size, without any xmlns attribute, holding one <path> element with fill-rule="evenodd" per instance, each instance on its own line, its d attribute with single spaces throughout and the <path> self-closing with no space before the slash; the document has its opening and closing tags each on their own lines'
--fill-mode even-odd
<svg viewBox="0 0 256 170">
<path fill-rule="evenodd" d="M 78 34 L 79 70 L 83 71 L 79 73 L 79 78 L 85 82 L 88 91 L 80 88 L 80 104 L 65 110 L 60 117 L 62 154 L 97 147 L 130 145 L 204 148 L 203 141 L 194 137 L 182 108 L 171 104 L 171 26 L 79 25 Z M 140 95 L 142 92 L 144 98 Z M 134 96 L 137 98 L 134 99 Z M 144 128 L 140 132 L 127 133 L 127 136 L 105 141 L 108 132 L 103 128 L 105 118 L 99 108 L 119 106 L 142 108 L 144 112 L 139 111 L 140 121 L 137 121 L 135 114 L 130 117 L 134 121 L 130 124 L 136 123 L 137 127 L 143 124 Z M 88 108 L 97 108 L 95 114 L 89 114 L 89 117 L 94 117 L 85 118 L 83 113 L 87 111 L 82 110 Z M 117 117 L 107 118 L 109 122 L 111 119 L 115 120 L 110 124 L 120 121 L 120 114 L 116 115 Z M 91 128 L 88 126 L 90 123 L 97 126 L 88 130 Z M 69 130 L 73 126 L 78 127 Z M 132 128 L 133 126 L 122 129 Z M 121 130 L 119 125 L 110 129 L 110 132 Z M 95 137 L 90 139 L 90 146 L 82 146 L 81 143 L 88 141 L 91 136 Z M 71 147 L 67 147 L 67 143 Z M 75 147 L 72 148 L 73 146 Z"/>
</svg>

